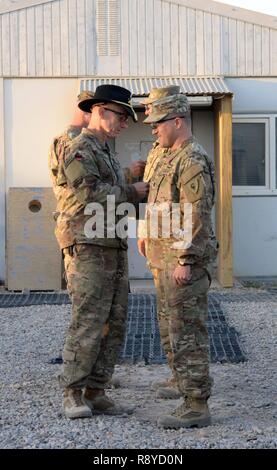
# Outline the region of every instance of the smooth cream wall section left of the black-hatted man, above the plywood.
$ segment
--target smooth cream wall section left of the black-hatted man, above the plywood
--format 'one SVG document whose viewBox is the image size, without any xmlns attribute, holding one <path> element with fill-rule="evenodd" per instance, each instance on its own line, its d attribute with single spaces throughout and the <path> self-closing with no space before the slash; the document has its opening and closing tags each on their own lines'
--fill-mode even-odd
<svg viewBox="0 0 277 470">
<path fill-rule="evenodd" d="M 5 279 L 5 198 L 10 187 L 49 187 L 47 154 L 52 138 L 71 119 L 76 79 L 4 80 L 5 155 L 1 146 L 0 279 Z M 1 129 L 0 129 L 1 132 Z M 3 132 L 2 132 L 3 134 Z"/>
</svg>

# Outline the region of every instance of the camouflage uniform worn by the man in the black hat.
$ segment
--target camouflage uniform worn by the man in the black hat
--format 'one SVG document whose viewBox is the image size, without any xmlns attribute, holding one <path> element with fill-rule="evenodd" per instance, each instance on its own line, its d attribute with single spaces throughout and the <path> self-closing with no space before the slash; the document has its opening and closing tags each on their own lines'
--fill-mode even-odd
<svg viewBox="0 0 277 470">
<path fill-rule="evenodd" d="M 124 338 L 127 300 L 127 241 L 87 238 L 91 215 L 84 209 L 98 202 L 106 211 L 107 196 L 115 205 L 136 202 L 136 190 L 126 185 L 115 154 L 88 129 L 67 149 L 64 195 L 58 200 L 56 236 L 65 257 L 72 321 L 63 351 L 63 387 L 104 389 L 111 378 Z M 118 222 L 119 217 L 116 219 Z M 105 235 L 107 227 L 105 225 Z M 108 334 L 103 336 L 105 324 Z"/>
</svg>

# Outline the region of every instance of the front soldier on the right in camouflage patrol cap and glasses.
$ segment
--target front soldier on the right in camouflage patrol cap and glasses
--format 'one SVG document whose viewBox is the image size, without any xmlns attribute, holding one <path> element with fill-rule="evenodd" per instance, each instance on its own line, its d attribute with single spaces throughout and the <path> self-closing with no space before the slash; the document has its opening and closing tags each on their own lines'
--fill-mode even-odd
<svg viewBox="0 0 277 470">
<path fill-rule="evenodd" d="M 148 204 L 166 203 L 172 217 L 173 204 L 180 210 L 181 227 L 191 208 L 191 238 L 184 232 L 168 236 L 158 226 L 158 236 L 146 241 L 146 255 L 156 272 L 157 297 L 165 299 L 161 312 L 170 338 L 172 367 L 183 403 L 171 415 L 159 418 L 165 428 L 206 426 L 211 422 L 208 398 L 209 337 L 206 327 L 209 263 L 216 256 L 211 223 L 215 183 L 213 164 L 191 134 L 186 96 L 177 94 L 153 103 L 144 121 L 153 127 L 159 145 L 168 149 L 150 181 Z M 176 206 L 175 206 L 176 208 Z M 148 215 L 146 219 L 148 220 Z M 150 224 L 151 225 L 151 224 Z M 147 227 L 149 233 L 151 227 Z M 160 318 L 161 322 L 161 318 Z"/>
</svg>

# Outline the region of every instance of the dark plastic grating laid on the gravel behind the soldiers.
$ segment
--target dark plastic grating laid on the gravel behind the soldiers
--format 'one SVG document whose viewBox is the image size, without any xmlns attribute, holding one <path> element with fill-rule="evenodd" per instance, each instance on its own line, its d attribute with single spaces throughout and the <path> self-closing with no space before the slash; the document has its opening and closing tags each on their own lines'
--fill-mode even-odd
<svg viewBox="0 0 277 470">
<path fill-rule="evenodd" d="M 209 292 L 209 317 L 211 361 L 239 363 L 246 360 L 240 345 L 239 333 L 230 327 L 220 307 L 221 302 L 277 301 L 277 290 L 242 292 L 239 294 Z M 70 304 L 67 293 L 4 293 L 0 294 L 0 308 L 29 305 Z M 166 357 L 160 342 L 154 294 L 129 294 L 128 321 L 120 359 L 127 362 L 144 361 L 145 364 L 162 364 Z M 61 358 L 51 361 L 61 362 Z"/>
</svg>

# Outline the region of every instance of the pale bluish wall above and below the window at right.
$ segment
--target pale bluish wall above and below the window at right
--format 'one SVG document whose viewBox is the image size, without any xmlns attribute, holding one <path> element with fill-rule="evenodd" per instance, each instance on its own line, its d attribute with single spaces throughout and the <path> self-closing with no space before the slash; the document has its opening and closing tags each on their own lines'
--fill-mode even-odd
<svg viewBox="0 0 277 470">
<path fill-rule="evenodd" d="M 234 114 L 277 114 L 277 78 L 229 78 L 226 82 L 234 92 Z M 276 207 L 277 195 L 233 197 L 235 275 L 276 276 Z"/>
</svg>

